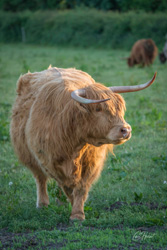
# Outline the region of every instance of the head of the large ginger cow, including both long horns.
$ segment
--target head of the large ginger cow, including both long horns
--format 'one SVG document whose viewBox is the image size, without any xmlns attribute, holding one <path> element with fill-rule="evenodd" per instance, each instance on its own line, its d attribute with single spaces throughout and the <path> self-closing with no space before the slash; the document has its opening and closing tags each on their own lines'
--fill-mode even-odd
<svg viewBox="0 0 167 250">
<path fill-rule="evenodd" d="M 117 93 L 139 91 L 150 86 L 156 77 L 136 86 L 109 87 L 96 83 L 71 93 L 87 119 L 86 142 L 95 146 L 122 144 L 131 137 L 131 126 L 124 120 L 125 102 Z"/>
</svg>

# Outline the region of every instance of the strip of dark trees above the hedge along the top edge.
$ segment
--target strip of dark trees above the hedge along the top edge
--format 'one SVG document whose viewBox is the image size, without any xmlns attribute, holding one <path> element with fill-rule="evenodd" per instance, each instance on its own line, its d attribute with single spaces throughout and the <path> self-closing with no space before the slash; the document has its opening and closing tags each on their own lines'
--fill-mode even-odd
<svg viewBox="0 0 167 250">
<path fill-rule="evenodd" d="M 89 7 L 99 10 L 126 12 L 167 11 L 167 0 L 1 0 L 0 10 L 18 12 L 22 10 L 53 10 Z"/>
</svg>

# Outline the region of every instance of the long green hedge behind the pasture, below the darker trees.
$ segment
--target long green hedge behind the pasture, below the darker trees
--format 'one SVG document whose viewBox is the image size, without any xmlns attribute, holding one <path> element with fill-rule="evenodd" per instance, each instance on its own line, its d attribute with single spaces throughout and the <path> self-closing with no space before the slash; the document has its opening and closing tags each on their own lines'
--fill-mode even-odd
<svg viewBox="0 0 167 250">
<path fill-rule="evenodd" d="M 95 9 L 0 12 L 0 42 L 126 48 L 152 38 L 164 46 L 166 13 L 104 12 Z"/>
</svg>

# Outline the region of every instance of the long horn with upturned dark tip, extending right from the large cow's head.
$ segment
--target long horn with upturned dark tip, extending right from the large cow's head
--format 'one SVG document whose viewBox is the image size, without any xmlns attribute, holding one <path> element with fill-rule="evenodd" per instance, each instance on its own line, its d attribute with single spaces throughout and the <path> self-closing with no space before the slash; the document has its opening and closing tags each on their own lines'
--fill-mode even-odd
<svg viewBox="0 0 167 250">
<path fill-rule="evenodd" d="M 139 84 L 136 86 L 135 85 L 134 86 L 114 86 L 114 87 L 109 87 L 109 89 L 111 89 L 115 93 L 127 93 L 127 92 L 139 91 L 139 90 L 149 87 L 154 82 L 156 75 L 157 75 L 157 72 L 154 73 L 154 76 L 150 81 L 143 83 L 143 84 Z"/>
</svg>

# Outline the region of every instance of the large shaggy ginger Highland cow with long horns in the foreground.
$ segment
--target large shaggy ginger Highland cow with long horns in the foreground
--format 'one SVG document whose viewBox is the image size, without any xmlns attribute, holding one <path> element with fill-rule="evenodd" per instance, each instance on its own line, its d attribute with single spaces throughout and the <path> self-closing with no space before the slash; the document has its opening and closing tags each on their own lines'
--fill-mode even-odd
<svg viewBox="0 0 167 250">
<path fill-rule="evenodd" d="M 53 178 L 72 204 L 70 218 L 85 218 L 84 202 L 107 151 L 131 137 L 124 100 L 114 92 L 138 91 L 154 78 L 125 88 L 107 88 L 76 69 L 19 78 L 10 132 L 16 154 L 35 177 L 37 207 L 49 204 L 47 180 Z"/>
</svg>

